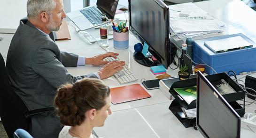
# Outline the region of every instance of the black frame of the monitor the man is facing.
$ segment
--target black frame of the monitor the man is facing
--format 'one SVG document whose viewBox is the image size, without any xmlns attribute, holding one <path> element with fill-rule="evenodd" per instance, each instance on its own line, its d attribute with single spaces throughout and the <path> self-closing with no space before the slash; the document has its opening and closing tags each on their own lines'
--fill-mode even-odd
<svg viewBox="0 0 256 138">
<path fill-rule="evenodd" d="M 162 1 L 162 0 L 154 0 L 157 4 L 160 5 L 160 7 L 163 8 L 165 11 L 164 13 L 164 23 L 166 24 L 166 32 L 165 34 L 165 43 L 164 43 L 164 59 L 161 58 L 160 54 L 155 51 L 154 47 L 152 47 L 151 44 L 149 44 L 145 38 L 143 38 L 137 31 L 132 27 L 132 18 L 131 18 L 131 0 L 128 0 L 128 9 L 129 9 L 129 29 L 133 33 L 134 36 L 138 38 L 138 40 L 146 42 L 149 46 L 148 51 L 161 63 L 164 65 L 165 68 L 168 68 L 168 66 L 171 64 L 171 40 L 170 40 L 170 11 L 169 7 Z"/>
</svg>

